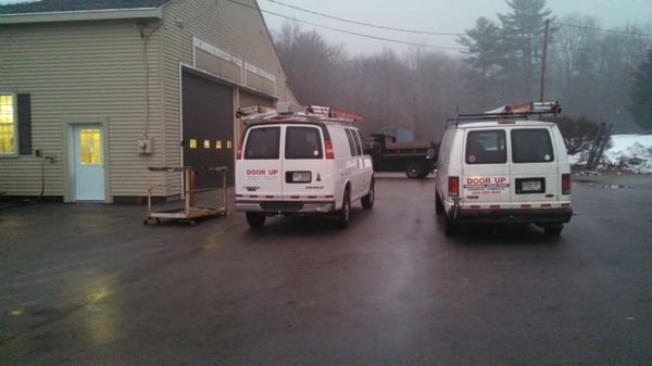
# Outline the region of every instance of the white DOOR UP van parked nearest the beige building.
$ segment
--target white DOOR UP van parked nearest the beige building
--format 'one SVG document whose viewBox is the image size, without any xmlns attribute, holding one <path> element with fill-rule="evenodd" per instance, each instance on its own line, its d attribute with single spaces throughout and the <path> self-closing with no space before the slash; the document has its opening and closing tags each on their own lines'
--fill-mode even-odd
<svg viewBox="0 0 652 366">
<path fill-rule="evenodd" d="M 330 215 L 349 225 L 351 202 L 374 206 L 374 168 L 351 122 L 360 115 L 330 108 L 240 111 L 248 125 L 236 156 L 235 210 L 251 227 L 273 215 Z"/>
</svg>

